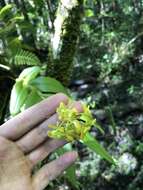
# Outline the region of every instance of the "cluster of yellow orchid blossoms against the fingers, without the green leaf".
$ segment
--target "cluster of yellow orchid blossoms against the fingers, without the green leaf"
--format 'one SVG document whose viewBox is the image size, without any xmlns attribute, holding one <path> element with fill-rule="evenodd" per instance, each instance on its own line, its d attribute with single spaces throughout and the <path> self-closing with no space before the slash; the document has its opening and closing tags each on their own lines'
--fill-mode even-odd
<svg viewBox="0 0 143 190">
<path fill-rule="evenodd" d="M 50 125 L 53 130 L 48 136 L 55 139 L 62 139 L 68 142 L 83 140 L 87 132 L 96 123 L 89 107 L 83 104 L 83 112 L 79 113 L 75 108 L 61 103 L 57 108 L 59 121 L 56 125 Z"/>
</svg>

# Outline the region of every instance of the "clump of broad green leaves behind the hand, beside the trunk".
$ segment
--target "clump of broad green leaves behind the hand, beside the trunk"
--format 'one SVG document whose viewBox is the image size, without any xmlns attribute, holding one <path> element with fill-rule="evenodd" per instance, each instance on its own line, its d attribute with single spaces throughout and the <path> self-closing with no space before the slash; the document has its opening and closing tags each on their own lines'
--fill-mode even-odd
<svg viewBox="0 0 143 190">
<path fill-rule="evenodd" d="M 38 66 L 29 67 L 24 69 L 16 79 L 10 98 L 11 115 L 17 115 L 52 94 L 66 93 L 64 86 L 59 81 L 53 78 L 39 77 L 41 72 L 42 68 Z"/>
</svg>

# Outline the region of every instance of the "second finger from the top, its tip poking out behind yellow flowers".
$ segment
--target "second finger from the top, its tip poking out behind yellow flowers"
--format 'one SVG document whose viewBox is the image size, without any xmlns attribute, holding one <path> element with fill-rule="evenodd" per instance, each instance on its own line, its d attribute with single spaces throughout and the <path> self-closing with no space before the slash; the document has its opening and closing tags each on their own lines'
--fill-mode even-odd
<svg viewBox="0 0 143 190">
<path fill-rule="evenodd" d="M 82 105 L 80 102 L 74 102 L 72 107 L 75 107 L 78 112 L 82 112 Z M 24 153 L 32 151 L 34 148 L 48 139 L 47 132 L 49 130 L 48 125 L 56 124 L 58 121 L 58 115 L 54 114 L 49 119 L 45 120 L 38 127 L 35 127 L 32 131 L 24 135 L 17 141 L 17 145 L 23 150 Z"/>
</svg>

